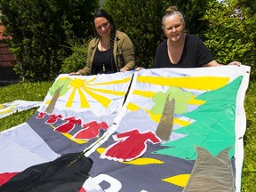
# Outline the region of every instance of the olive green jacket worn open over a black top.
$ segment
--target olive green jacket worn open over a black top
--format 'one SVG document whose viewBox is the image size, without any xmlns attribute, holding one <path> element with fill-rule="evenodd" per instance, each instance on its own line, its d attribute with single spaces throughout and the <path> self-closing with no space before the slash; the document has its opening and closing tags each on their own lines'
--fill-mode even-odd
<svg viewBox="0 0 256 192">
<path fill-rule="evenodd" d="M 86 66 L 83 69 L 78 70 L 81 75 L 96 74 L 95 68 L 92 66 L 92 62 L 99 42 L 100 37 L 95 37 L 90 41 Z M 134 47 L 132 41 L 129 36 L 121 31 L 116 31 L 113 54 L 117 71 L 120 71 L 120 69 L 124 67 L 129 68 L 129 70 L 135 67 Z"/>
</svg>

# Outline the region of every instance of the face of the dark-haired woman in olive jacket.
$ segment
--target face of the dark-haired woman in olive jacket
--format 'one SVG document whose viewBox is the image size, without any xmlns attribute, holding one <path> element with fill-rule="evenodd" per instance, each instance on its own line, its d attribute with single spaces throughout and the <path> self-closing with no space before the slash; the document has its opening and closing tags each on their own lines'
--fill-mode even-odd
<svg viewBox="0 0 256 192">
<path fill-rule="evenodd" d="M 94 26 L 99 36 L 101 36 L 102 38 L 106 38 L 111 35 L 112 25 L 106 18 L 96 18 L 94 20 Z"/>
</svg>

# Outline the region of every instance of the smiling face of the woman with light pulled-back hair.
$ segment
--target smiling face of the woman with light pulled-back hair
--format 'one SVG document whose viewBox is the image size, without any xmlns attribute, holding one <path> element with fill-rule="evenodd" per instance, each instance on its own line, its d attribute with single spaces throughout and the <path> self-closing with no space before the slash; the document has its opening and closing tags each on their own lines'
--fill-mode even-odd
<svg viewBox="0 0 256 192">
<path fill-rule="evenodd" d="M 173 14 L 164 20 L 164 34 L 171 42 L 178 42 L 184 34 L 185 25 L 180 15 Z"/>
</svg>

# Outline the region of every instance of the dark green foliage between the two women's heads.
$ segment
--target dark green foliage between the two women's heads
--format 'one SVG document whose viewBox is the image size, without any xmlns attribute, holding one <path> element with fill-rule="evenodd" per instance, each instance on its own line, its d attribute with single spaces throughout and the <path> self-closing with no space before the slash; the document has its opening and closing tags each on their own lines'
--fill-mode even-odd
<svg viewBox="0 0 256 192">
<path fill-rule="evenodd" d="M 161 19 L 166 5 L 165 0 L 106 0 L 104 4 L 116 28 L 131 38 L 138 66 L 148 68 L 153 63 L 156 46 L 163 38 Z"/>
</svg>

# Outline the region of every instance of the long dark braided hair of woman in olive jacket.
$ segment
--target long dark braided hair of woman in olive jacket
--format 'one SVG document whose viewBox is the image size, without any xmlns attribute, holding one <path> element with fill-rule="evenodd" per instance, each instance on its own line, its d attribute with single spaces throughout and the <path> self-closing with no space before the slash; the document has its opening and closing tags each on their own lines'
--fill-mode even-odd
<svg viewBox="0 0 256 192">
<path fill-rule="evenodd" d="M 113 20 L 112 16 L 110 14 L 108 14 L 108 12 L 106 12 L 103 9 L 99 9 L 97 12 L 95 12 L 95 14 L 93 16 L 93 19 L 92 19 L 92 24 L 93 24 L 94 28 L 95 28 L 94 20 L 96 18 L 100 18 L 100 17 L 106 18 L 112 26 L 109 49 L 110 49 L 111 67 L 113 68 L 114 67 L 114 53 L 113 53 L 113 50 L 114 50 L 114 41 L 115 41 L 115 37 L 116 37 L 115 23 L 114 23 L 114 20 Z M 97 31 L 96 31 L 96 33 L 97 33 Z M 97 33 L 97 36 L 99 36 L 98 33 Z M 116 67 L 116 69 L 118 70 L 117 67 Z"/>
</svg>

